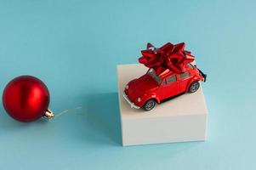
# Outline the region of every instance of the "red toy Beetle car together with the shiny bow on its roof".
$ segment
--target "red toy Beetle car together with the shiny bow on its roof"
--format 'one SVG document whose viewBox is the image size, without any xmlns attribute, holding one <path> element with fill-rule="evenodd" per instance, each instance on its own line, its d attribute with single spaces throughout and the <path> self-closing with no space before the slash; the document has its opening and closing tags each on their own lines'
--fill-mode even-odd
<svg viewBox="0 0 256 170">
<path fill-rule="evenodd" d="M 153 57 L 156 57 L 156 64 L 151 62 L 151 65 L 148 66 L 149 70 L 145 75 L 128 82 L 123 92 L 123 98 L 128 101 L 132 108 L 143 108 L 145 111 L 151 111 L 162 100 L 186 92 L 195 93 L 200 87 L 200 81 L 206 81 L 206 75 L 196 65 L 191 64 L 194 56 L 191 55 L 191 52 L 184 50 L 184 42 L 177 45 L 168 42 L 162 48 L 152 47 L 151 44 L 148 44 L 147 51 L 142 51 L 142 54 L 145 55 L 143 57 L 149 56 L 148 60 L 150 62 L 154 59 Z M 172 64 L 177 65 L 179 58 L 182 61 L 182 68 L 178 65 L 178 69 L 172 69 L 172 67 L 162 69 L 162 65 L 166 64 L 162 63 L 159 65 L 159 60 L 162 62 L 164 59 L 169 61 L 173 59 L 174 62 Z M 188 62 L 185 62 L 185 59 Z M 145 61 L 143 62 L 145 64 Z M 161 71 L 157 72 L 159 68 Z"/>
</svg>

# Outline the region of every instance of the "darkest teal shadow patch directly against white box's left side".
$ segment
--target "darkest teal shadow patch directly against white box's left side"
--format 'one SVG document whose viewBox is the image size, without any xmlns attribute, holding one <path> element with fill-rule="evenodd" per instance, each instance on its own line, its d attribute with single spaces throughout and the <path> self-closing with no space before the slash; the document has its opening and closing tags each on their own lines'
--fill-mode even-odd
<svg viewBox="0 0 256 170">
<path fill-rule="evenodd" d="M 114 144 L 121 145 L 117 93 L 88 94 L 85 108 L 88 127 L 92 128 L 98 135 L 111 139 Z"/>
</svg>

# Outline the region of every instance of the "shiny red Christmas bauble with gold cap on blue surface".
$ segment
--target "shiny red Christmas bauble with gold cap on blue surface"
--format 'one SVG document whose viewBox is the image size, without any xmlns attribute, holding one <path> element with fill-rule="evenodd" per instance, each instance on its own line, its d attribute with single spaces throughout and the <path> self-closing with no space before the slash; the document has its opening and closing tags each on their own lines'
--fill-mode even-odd
<svg viewBox="0 0 256 170">
<path fill-rule="evenodd" d="M 20 122 L 33 122 L 42 116 L 53 118 L 49 100 L 48 88 L 37 77 L 16 77 L 3 90 L 5 111 Z"/>
</svg>

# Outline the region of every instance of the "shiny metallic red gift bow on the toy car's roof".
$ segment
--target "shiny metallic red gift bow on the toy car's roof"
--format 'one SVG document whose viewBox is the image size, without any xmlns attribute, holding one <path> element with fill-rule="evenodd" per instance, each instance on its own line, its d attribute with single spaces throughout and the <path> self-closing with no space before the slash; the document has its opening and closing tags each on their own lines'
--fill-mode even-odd
<svg viewBox="0 0 256 170">
<path fill-rule="evenodd" d="M 174 72 L 183 72 L 184 65 L 191 63 L 195 57 L 191 52 L 185 51 L 185 42 L 179 44 L 166 43 L 161 48 L 155 48 L 151 43 L 147 44 L 147 49 L 142 50 L 142 57 L 139 63 L 146 67 L 154 68 L 156 74 L 169 69 Z"/>
</svg>

